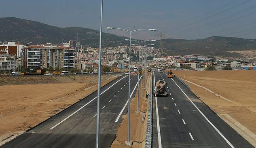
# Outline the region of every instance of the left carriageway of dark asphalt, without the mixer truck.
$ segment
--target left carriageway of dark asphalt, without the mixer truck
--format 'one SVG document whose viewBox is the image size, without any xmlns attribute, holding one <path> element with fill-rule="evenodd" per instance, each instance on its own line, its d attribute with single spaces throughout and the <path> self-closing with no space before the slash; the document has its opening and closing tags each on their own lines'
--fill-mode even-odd
<svg viewBox="0 0 256 148">
<path fill-rule="evenodd" d="M 110 147 L 127 112 L 128 80 L 121 76 L 101 89 L 100 148 Z M 137 81 L 131 75 L 131 97 Z M 96 104 L 97 91 L 0 148 L 95 148 Z"/>
</svg>

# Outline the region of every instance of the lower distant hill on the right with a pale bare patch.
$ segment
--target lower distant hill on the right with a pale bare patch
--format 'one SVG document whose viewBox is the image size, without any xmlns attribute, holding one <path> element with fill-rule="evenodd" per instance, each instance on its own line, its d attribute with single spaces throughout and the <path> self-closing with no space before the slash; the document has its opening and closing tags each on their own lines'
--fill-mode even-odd
<svg viewBox="0 0 256 148">
<path fill-rule="evenodd" d="M 163 46 L 167 54 L 178 55 L 212 55 L 222 57 L 242 57 L 241 54 L 229 51 L 256 49 L 255 39 L 211 36 L 198 40 L 165 39 Z M 256 55 L 255 55 L 256 56 Z"/>
</svg>

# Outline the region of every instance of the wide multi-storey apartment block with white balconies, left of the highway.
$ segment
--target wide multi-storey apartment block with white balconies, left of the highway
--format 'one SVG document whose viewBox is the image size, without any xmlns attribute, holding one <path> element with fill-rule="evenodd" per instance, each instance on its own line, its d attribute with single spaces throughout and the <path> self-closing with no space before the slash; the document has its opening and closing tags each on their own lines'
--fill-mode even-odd
<svg viewBox="0 0 256 148">
<path fill-rule="evenodd" d="M 30 45 L 23 48 L 23 67 L 30 68 L 73 68 L 74 49 L 49 45 Z"/>
</svg>

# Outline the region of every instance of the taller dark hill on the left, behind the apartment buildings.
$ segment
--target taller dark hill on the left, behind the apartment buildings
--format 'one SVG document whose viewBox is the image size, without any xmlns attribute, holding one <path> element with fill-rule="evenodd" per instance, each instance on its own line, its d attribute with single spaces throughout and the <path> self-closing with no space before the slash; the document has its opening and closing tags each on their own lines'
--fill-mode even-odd
<svg viewBox="0 0 256 148">
<path fill-rule="evenodd" d="M 78 41 L 83 45 L 98 45 L 99 31 L 83 27 L 55 27 L 15 17 L 0 18 L 0 40 L 23 40 L 25 42 L 33 42 L 33 44 L 43 44 L 51 42 L 53 44 L 76 40 L 78 33 Z M 125 37 L 113 34 L 102 34 L 102 40 L 124 40 Z M 113 42 L 105 42 L 108 46 Z"/>
</svg>

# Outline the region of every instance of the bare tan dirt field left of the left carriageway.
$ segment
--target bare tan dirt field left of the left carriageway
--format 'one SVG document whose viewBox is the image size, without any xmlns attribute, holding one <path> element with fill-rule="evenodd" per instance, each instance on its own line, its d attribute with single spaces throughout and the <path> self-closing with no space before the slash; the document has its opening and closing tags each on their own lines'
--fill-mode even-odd
<svg viewBox="0 0 256 148">
<path fill-rule="evenodd" d="M 101 85 L 104 86 L 117 77 L 103 75 Z M 0 142 L 34 127 L 97 90 L 97 76 L 20 79 L 9 83 L 22 82 L 24 85 L 0 86 Z M 34 84 L 47 82 L 55 84 Z"/>
</svg>

